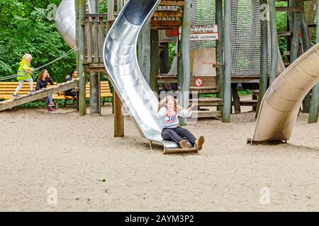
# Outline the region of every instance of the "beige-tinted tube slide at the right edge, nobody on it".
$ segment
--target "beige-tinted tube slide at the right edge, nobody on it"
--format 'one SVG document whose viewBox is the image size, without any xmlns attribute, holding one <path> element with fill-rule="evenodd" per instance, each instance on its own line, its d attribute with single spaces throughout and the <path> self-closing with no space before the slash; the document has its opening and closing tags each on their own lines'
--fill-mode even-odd
<svg viewBox="0 0 319 226">
<path fill-rule="evenodd" d="M 319 44 L 296 59 L 265 93 L 251 141 L 287 141 L 301 102 L 319 81 Z"/>
</svg>

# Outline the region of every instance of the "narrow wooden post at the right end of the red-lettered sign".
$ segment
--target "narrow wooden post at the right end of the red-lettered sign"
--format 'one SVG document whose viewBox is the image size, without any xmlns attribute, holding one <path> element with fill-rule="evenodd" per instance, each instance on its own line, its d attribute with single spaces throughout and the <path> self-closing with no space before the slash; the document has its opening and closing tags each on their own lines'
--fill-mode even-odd
<svg viewBox="0 0 319 226">
<path fill-rule="evenodd" d="M 218 25 L 218 36 L 219 39 L 216 40 L 216 61 L 217 64 L 224 64 L 223 60 L 223 0 L 216 0 L 216 24 Z M 217 71 L 217 85 L 220 87 L 220 92 L 217 97 L 223 99 L 224 97 L 224 69 L 218 67 Z M 218 111 L 223 109 L 222 106 L 217 107 Z"/>
</svg>

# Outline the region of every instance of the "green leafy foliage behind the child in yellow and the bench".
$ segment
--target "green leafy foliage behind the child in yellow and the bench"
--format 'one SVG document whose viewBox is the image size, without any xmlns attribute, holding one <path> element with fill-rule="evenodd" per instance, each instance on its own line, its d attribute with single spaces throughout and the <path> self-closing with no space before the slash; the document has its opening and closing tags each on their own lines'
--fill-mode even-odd
<svg viewBox="0 0 319 226">
<path fill-rule="evenodd" d="M 69 51 L 55 21 L 47 19 L 47 5 L 58 5 L 60 1 L 0 0 L 0 78 L 15 74 L 25 53 L 33 56 L 31 66 L 37 68 Z M 75 54 L 71 54 L 46 69 L 54 81 L 62 82 L 75 67 Z M 33 78 L 38 74 L 34 73 Z"/>
</svg>

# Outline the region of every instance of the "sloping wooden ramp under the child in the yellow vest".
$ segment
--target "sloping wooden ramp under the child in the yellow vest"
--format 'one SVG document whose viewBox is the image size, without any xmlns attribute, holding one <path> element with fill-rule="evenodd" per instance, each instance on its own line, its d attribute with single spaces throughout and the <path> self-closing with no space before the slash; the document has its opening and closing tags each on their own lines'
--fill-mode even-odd
<svg viewBox="0 0 319 226">
<path fill-rule="evenodd" d="M 4 100 L 0 102 L 0 111 L 5 109 L 9 109 L 11 107 L 16 107 L 18 105 L 23 105 L 28 102 L 33 102 L 35 100 L 43 99 L 48 95 L 53 95 L 55 93 L 60 93 L 65 90 L 70 90 L 79 86 L 79 78 L 74 81 L 67 81 L 66 83 L 61 83 L 59 85 L 52 85 L 50 88 L 44 88 L 42 90 L 38 90 L 35 93 L 30 93 L 28 95 L 21 95 L 15 99 Z"/>
</svg>

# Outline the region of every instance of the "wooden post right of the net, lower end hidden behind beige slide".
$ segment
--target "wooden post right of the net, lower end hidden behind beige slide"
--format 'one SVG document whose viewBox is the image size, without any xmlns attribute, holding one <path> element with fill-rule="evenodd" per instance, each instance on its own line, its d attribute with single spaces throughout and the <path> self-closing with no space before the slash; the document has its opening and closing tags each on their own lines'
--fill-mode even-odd
<svg viewBox="0 0 319 226">
<path fill-rule="evenodd" d="M 278 35 L 276 22 L 276 0 L 269 0 L 270 7 L 270 33 L 272 40 L 272 61 L 269 75 L 269 84 L 273 83 L 277 77 L 278 68 Z"/>
</svg>

